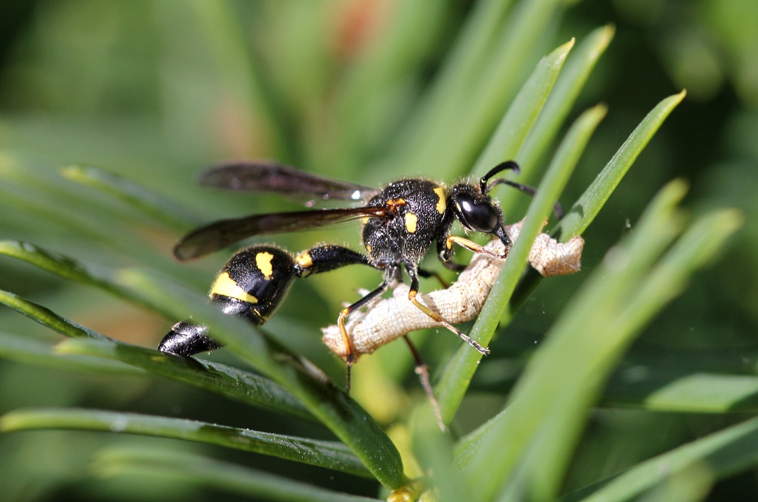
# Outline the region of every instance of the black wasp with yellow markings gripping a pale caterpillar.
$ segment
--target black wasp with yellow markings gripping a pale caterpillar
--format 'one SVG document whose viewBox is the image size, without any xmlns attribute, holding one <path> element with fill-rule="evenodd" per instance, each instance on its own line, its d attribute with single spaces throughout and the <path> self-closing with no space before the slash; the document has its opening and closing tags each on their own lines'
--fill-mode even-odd
<svg viewBox="0 0 758 502">
<path fill-rule="evenodd" d="M 252 192 L 272 192 L 305 198 L 309 202 L 338 200 L 362 204 L 360 207 L 277 212 L 243 218 L 214 221 L 183 237 L 174 247 L 174 256 L 182 261 L 199 258 L 224 249 L 233 243 L 258 235 L 312 230 L 344 221 L 361 221 L 365 253 L 344 246 L 315 246 L 293 255 L 270 245 L 255 245 L 236 253 L 211 287 L 211 303 L 224 313 L 239 315 L 255 325 L 262 325 L 273 315 L 286 296 L 294 278 L 334 270 L 346 265 L 367 265 L 383 273 L 381 284 L 360 300 L 346 306 L 337 318 L 347 364 L 349 391 L 350 367 L 358 353 L 346 330 L 346 318 L 379 298 L 390 286 L 408 275 L 408 300 L 439 325 L 453 331 L 482 354 L 489 353 L 475 340 L 453 326 L 440 313 L 418 301 L 419 277 L 431 275 L 419 267 L 432 244 L 437 243 L 440 262 L 454 271 L 465 265 L 453 262 L 453 246 L 495 259 L 506 259 L 512 242 L 506 234 L 503 213 L 490 198 L 497 184 L 507 184 L 534 195 L 535 190 L 505 178 L 495 178 L 503 171 L 518 173 L 513 161 L 496 165 L 478 183 L 464 181 L 446 187 L 421 177 L 395 181 L 381 189 L 365 187 L 343 180 L 333 180 L 277 162 L 237 162 L 220 165 L 202 174 L 200 183 L 209 187 Z M 556 212 L 559 205 L 556 204 Z M 490 234 L 502 247 L 492 251 L 450 233 L 455 221 L 466 231 Z M 406 339 L 407 340 L 407 339 Z M 220 347 L 207 328 L 192 321 L 174 325 L 161 341 L 160 350 L 191 356 Z M 417 352 L 412 347 L 414 355 Z M 418 361 L 418 356 L 417 356 Z"/>
</svg>

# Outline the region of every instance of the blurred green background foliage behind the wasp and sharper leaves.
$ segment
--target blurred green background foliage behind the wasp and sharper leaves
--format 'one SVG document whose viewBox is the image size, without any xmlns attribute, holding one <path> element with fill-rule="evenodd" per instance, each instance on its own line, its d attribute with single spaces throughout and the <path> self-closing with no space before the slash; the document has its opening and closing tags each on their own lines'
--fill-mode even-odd
<svg viewBox="0 0 758 502">
<path fill-rule="evenodd" d="M 185 2 L 183 0 L 0 0 L 0 237 L 27 240 L 86 262 L 139 265 L 166 271 L 206 287 L 224 256 L 191 265 L 171 260 L 178 234 L 124 219 L 107 199 L 102 225 L 74 198 L 84 189 L 58 168 L 94 165 L 152 187 L 187 208 L 196 221 L 249 212 L 294 209 L 276 197 L 218 193 L 194 184 L 203 168 L 228 158 L 277 158 L 301 168 L 366 184 L 402 175 L 434 177 L 435 166 L 393 165 L 388 152 L 408 148 L 409 110 L 440 67 L 472 2 L 438 2 L 415 30 L 402 61 L 381 58 L 382 36 L 393 27 L 400 0 Z M 629 131 L 662 97 L 688 89 L 682 102 L 638 158 L 603 212 L 584 234 L 584 272 L 554 281 L 528 301 L 490 347 L 457 427 L 465 432 L 503 403 L 509 362 L 528 353 L 582 276 L 622 237 L 666 181 L 691 183 L 694 212 L 736 206 L 747 223 L 718 263 L 647 328 L 628 356 L 700 358 L 703 369 L 758 372 L 758 3 L 741 0 L 587 0 L 567 5 L 550 27 L 543 53 L 572 36 L 581 39 L 603 24 L 615 38 L 575 113 L 606 102 L 609 115 L 590 143 L 562 196 L 565 206 L 581 194 Z M 372 55 L 367 58 L 366 55 Z M 365 80 L 362 61 L 388 64 L 384 81 Z M 536 64 L 535 55 L 533 64 Z M 356 91 L 357 89 L 357 91 Z M 261 96 L 268 96 L 261 99 Z M 278 132 L 277 132 L 278 131 Z M 412 148 L 412 146 L 411 146 Z M 549 155 L 545 155 L 548 158 Z M 473 162 L 474 158 L 468 159 Z M 457 176 L 468 165 L 463 162 Z M 446 181 L 453 181 L 447 179 Z M 32 187 L 32 188 L 30 188 Z M 522 210 L 525 207 L 522 206 Z M 506 215 L 516 221 L 519 215 Z M 142 218 L 142 219 L 141 219 Z M 137 227 L 131 239 L 124 227 Z M 72 240 L 86 227 L 92 240 Z M 94 229 L 94 230 L 92 230 Z M 277 237 L 290 249 L 329 240 L 358 245 L 355 229 Z M 93 245 L 93 242 L 96 245 Z M 105 250 L 105 251 L 104 251 Z M 300 281 L 271 330 L 286 330 L 299 350 L 340 375 L 340 362 L 318 337 L 340 303 L 358 287 L 373 287 L 371 271 L 345 269 Z M 348 284 L 346 286 L 346 284 Z M 434 287 L 431 283 L 428 287 Z M 161 318 L 83 286 L 7 258 L 0 258 L 0 289 L 26 296 L 80 324 L 130 343 L 155 347 L 169 326 Z M 344 291 L 344 295 L 334 291 Z M 43 328 L 0 309 L 0 330 L 56 340 Z M 457 347 L 455 337 L 424 344 L 434 368 Z M 223 351 L 211 356 L 226 357 Z M 404 347 L 384 347 L 356 367 L 356 397 L 384 424 L 402 416 L 407 399 L 388 375 L 406 375 Z M 377 369 L 378 368 L 378 369 Z M 736 370 L 735 370 L 736 368 Z M 414 375 L 407 381 L 420 393 Z M 361 389 L 382 392 L 371 400 Z M 0 413 L 22 406 L 87 406 L 136 410 L 328 438 L 323 429 L 258 412 L 168 381 L 102 379 L 0 361 Z M 596 413 L 578 452 L 568 488 L 610 475 L 676 444 L 744 417 L 649 413 L 603 409 Z M 641 441 L 640 438 L 650 438 Z M 178 441 L 84 432 L 25 432 L 0 437 L 2 500 L 181 500 L 189 488 L 135 485 L 92 478 L 92 453 L 109 444 L 189 448 Z M 212 447 L 202 450 L 330 488 L 376 494 L 365 480 L 284 460 Z M 196 494 L 193 500 L 214 494 Z M 755 500 L 756 472 L 720 482 L 708 500 Z M 230 500 L 232 500 L 230 498 Z"/>
</svg>

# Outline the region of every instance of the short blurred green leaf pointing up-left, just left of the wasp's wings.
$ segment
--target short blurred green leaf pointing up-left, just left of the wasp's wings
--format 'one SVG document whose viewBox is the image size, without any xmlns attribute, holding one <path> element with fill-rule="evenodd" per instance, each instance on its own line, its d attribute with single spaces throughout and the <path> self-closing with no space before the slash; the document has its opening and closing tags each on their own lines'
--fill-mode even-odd
<svg viewBox="0 0 758 502">
<path fill-rule="evenodd" d="M 200 222 L 187 209 L 168 203 L 165 196 L 117 174 L 91 166 L 70 165 L 61 168 L 61 175 L 124 202 L 168 229 L 186 232 Z"/>
</svg>

